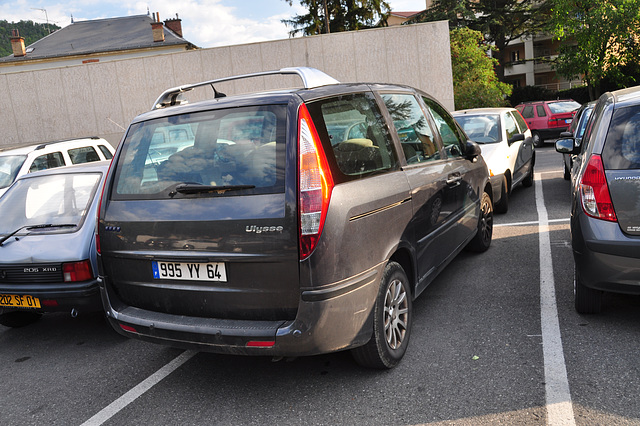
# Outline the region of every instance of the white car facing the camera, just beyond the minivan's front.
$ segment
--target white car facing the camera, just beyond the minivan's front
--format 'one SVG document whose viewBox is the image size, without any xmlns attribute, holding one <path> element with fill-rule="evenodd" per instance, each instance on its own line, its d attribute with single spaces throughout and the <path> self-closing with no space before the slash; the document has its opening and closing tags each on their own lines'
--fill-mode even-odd
<svg viewBox="0 0 640 426">
<path fill-rule="evenodd" d="M 506 213 L 513 188 L 520 182 L 533 185 L 536 154 L 527 123 L 514 108 L 467 109 L 455 111 L 453 118 L 480 144 L 491 176 L 494 209 Z"/>
</svg>

